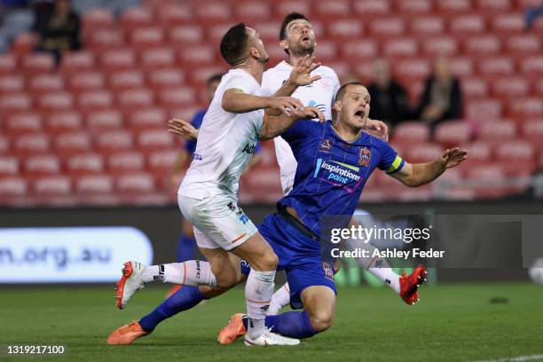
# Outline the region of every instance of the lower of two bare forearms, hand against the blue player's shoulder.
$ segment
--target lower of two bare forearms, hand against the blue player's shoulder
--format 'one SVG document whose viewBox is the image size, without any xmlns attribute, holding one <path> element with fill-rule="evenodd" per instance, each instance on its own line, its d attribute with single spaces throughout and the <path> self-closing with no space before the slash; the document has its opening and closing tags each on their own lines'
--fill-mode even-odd
<svg viewBox="0 0 543 362">
<path fill-rule="evenodd" d="M 325 115 L 316 106 L 296 108 L 289 115 L 264 114 L 263 127 L 259 138 L 262 140 L 276 138 L 292 127 L 298 120 L 313 118 L 319 118 L 319 122 L 326 122 Z"/>
</svg>

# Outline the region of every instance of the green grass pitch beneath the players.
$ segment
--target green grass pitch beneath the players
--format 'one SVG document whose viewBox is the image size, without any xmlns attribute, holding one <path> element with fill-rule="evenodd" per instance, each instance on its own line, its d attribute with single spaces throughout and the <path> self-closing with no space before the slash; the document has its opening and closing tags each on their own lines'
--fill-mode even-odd
<svg viewBox="0 0 543 362">
<path fill-rule="evenodd" d="M 127 309 L 114 307 L 112 287 L 0 290 L 0 344 L 64 344 L 61 361 L 473 361 L 543 355 L 543 287 L 523 283 L 423 287 L 407 306 L 388 288 L 343 287 L 334 327 L 284 348 L 216 343 L 216 331 L 244 310 L 243 290 L 169 319 L 131 346 L 107 346 L 115 327 L 161 302 L 149 287 Z M 490 303 L 492 298 L 507 298 Z M 0 360 L 21 361 L 26 357 Z M 42 358 L 40 358 L 42 359 Z"/>
</svg>

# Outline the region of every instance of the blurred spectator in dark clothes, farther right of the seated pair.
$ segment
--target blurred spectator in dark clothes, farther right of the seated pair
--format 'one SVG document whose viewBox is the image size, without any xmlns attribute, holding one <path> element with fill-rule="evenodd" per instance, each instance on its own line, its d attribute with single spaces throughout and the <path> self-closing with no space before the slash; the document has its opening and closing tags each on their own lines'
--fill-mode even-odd
<svg viewBox="0 0 543 362">
<path fill-rule="evenodd" d="M 460 82 L 451 73 L 449 59 L 438 57 L 434 63 L 433 74 L 426 80 L 416 116 L 429 123 L 433 132 L 437 123 L 460 118 L 461 114 Z"/>
</svg>

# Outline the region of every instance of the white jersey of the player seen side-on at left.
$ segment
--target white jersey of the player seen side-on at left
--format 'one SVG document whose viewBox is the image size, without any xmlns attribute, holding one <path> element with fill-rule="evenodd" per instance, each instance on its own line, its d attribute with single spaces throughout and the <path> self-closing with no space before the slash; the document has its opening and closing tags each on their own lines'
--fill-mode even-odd
<svg viewBox="0 0 543 362">
<path fill-rule="evenodd" d="M 178 194 L 198 200 L 225 194 L 237 200 L 240 175 L 255 153 L 264 110 L 226 112 L 223 95 L 231 89 L 261 95 L 260 84 L 246 71 L 232 69 L 223 76 L 203 118 L 193 161 Z"/>
</svg>

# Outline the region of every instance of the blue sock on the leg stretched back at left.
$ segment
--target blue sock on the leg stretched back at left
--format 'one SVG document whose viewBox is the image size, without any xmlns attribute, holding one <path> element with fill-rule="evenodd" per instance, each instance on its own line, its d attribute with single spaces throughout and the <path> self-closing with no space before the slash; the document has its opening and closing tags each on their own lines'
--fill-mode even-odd
<svg viewBox="0 0 543 362">
<path fill-rule="evenodd" d="M 161 303 L 154 311 L 139 319 L 139 325 L 146 332 L 151 332 L 154 327 L 164 319 L 175 316 L 180 311 L 186 311 L 206 299 L 200 293 L 198 287 L 184 286 Z"/>
</svg>

